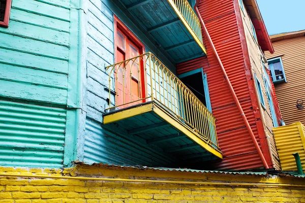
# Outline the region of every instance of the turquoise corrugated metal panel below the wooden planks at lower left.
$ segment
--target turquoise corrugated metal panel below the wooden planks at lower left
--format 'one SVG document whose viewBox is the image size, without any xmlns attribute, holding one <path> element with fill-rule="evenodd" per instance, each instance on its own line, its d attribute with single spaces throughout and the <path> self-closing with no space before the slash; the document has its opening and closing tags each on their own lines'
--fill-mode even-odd
<svg viewBox="0 0 305 203">
<path fill-rule="evenodd" d="M 61 167 L 66 110 L 0 100 L 0 165 Z"/>
</svg>

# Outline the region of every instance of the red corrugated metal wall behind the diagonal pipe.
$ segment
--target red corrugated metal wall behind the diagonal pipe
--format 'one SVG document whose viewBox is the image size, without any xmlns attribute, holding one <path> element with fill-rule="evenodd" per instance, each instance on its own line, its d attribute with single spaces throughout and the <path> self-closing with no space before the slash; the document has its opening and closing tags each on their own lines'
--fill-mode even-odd
<svg viewBox="0 0 305 203">
<path fill-rule="evenodd" d="M 238 23 L 238 13 L 234 8 L 236 3 L 236 0 L 202 0 L 198 9 L 253 129 L 256 140 L 267 163 L 271 166 L 263 125 L 257 109 L 258 104 L 254 82 L 251 78 L 248 49 L 247 45 L 245 47 L 245 41 L 243 41 L 243 45 L 241 43 L 242 35 L 243 40 L 245 40 L 245 32 L 240 33 L 243 27 L 241 22 Z M 241 21 L 241 16 L 239 20 Z M 214 166 L 219 170 L 248 170 L 263 167 L 250 134 L 228 89 L 219 63 L 209 43 L 205 43 L 205 45 L 207 48 L 207 63 L 204 61 L 204 65 L 201 66 L 207 74 L 212 112 L 217 118 L 219 145 L 224 155 L 224 159 Z M 245 51 L 247 51 L 248 56 Z M 192 70 L 193 66 L 191 64 L 194 61 L 198 62 L 197 60 L 178 64 L 177 72 Z"/>
</svg>

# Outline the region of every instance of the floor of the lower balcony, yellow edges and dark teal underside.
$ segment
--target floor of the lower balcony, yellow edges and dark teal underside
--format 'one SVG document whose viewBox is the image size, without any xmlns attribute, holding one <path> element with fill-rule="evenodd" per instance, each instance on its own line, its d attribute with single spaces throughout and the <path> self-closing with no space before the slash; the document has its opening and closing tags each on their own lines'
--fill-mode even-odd
<svg viewBox="0 0 305 203">
<path fill-rule="evenodd" d="M 222 158 L 218 149 L 156 101 L 114 110 L 103 117 L 104 124 L 115 122 L 129 135 L 145 139 L 147 145 L 158 146 L 181 162 L 192 164 Z"/>
</svg>

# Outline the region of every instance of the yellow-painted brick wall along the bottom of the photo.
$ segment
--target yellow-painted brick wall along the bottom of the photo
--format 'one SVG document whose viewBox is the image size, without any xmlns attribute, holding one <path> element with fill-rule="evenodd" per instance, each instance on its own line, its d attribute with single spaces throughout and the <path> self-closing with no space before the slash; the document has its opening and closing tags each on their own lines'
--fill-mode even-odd
<svg viewBox="0 0 305 203">
<path fill-rule="evenodd" d="M 33 172 L 34 171 L 34 172 Z M 39 170 L 38 170 L 39 171 Z M 3 172 L 3 170 L 2 170 Z M 29 174 L 37 170 L 19 170 Z M 41 171 L 39 171 L 41 172 Z M 14 171 L 10 172 L 14 173 Z M 16 171 L 17 173 L 17 171 Z M 43 172 L 53 175 L 53 172 Z M 115 171 L 113 171 L 115 173 Z M 117 171 L 121 174 L 121 171 Z M 124 173 L 123 173 L 124 174 Z M 63 174 L 62 174 L 63 175 Z M 67 175 L 67 174 L 66 174 Z M 215 178 L 219 178 L 215 175 Z M 114 176 L 112 177 L 114 178 Z M 116 178 L 116 177 L 115 177 Z M 240 182 L 242 176 L 239 177 Z M 247 175 L 244 178 L 249 178 Z M 235 178 L 238 182 L 238 178 Z M 258 182 L 257 182 L 258 183 Z M 183 185 L 0 177 L 1 203 L 305 202 L 305 187 Z"/>
</svg>

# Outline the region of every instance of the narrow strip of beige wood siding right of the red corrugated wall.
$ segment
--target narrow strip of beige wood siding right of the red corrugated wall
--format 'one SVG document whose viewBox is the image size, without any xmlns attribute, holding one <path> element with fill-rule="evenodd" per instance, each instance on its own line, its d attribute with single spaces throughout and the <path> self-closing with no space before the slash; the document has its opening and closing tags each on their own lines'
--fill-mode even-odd
<svg viewBox="0 0 305 203">
<path fill-rule="evenodd" d="M 268 138 L 268 142 L 270 143 L 270 148 L 271 154 L 272 154 L 272 162 L 275 165 L 276 169 L 280 169 L 280 162 L 279 162 L 279 156 L 278 152 L 276 149 L 276 144 L 275 144 L 275 139 L 272 133 L 272 128 L 273 128 L 273 122 L 272 122 L 272 116 L 271 116 L 271 111 L 270 111 L 270 106 L 267 98 L 267 93 L 266 93 L 266 87 L 264 85 L 264 71 L 263 71 L 263 65 L 261 61 L 261 56 L 263 56 L 262 51 L 260 50 L 257 41 L 253 37 L 253 31 L 252 31 L 252 26 L 251 26 L 251 19 L 247 13 L 247 10 L 244 9 L 244 11 L 241 11 L 241 16 L 242 16 L 242 22 L 245 28 L 245 34 L 246 34 L 246 40 L 247 40 L 247 45 L 248 45 L 248 51 L 250 55 L 250 62 L 251 62 L 251 67 L 253 73 L 257 76 L 261 88 L 262 88 L 262 93 L 263 93 L 263 99 L 264 99 L 264 104 L 266 109 L 262 109 L 263 111 L 263 116 L 265 118 L 265 123 L 263 123 L 264 130 L 266 137 Z M 253 79 L 255 81 L 255 79 Z M 258 94 L 258 92 L 256 92 Z M 257 95 L 257 98 L 259 99 L 259 95 Z M 263 108 L 260 105 L 260 108 Z"/>
</svg>

